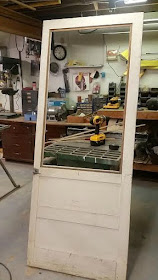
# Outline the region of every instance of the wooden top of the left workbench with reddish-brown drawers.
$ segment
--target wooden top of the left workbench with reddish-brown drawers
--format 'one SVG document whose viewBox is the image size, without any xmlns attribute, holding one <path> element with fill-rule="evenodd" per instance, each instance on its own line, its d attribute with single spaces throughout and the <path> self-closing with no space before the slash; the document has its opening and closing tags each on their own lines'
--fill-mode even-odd
<svg viewBox="0 0 158 280">
<path fill-rule="evenodd" d="M 0 119 L 1 124 L 9 124 L 9 123 L 26 123 L 26 124 L 36 124 L 35 121 L 25 121 L 24 117 L 11 118 L 11 119 Z M 52 126 L 83 126 L 83 127 L 93 127 L 90 123 L 68 123 L 67 121 L 48 121 L 46 122 L 48 125 Z"/>
</svg>

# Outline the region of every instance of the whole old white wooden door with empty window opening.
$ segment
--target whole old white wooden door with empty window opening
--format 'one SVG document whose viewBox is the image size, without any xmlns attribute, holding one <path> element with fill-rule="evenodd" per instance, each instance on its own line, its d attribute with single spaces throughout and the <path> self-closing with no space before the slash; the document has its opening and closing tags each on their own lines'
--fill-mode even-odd
<svg viewBox="0 0 158 280">
<path fill-rule="evenodd" d="M 129 24 L 130 65 L 121 173 L 42 166 L 50 30 Z M 44 22 L 28 264 L 98 280 L 125 280 L 143 14 Z"/>
</svg>

